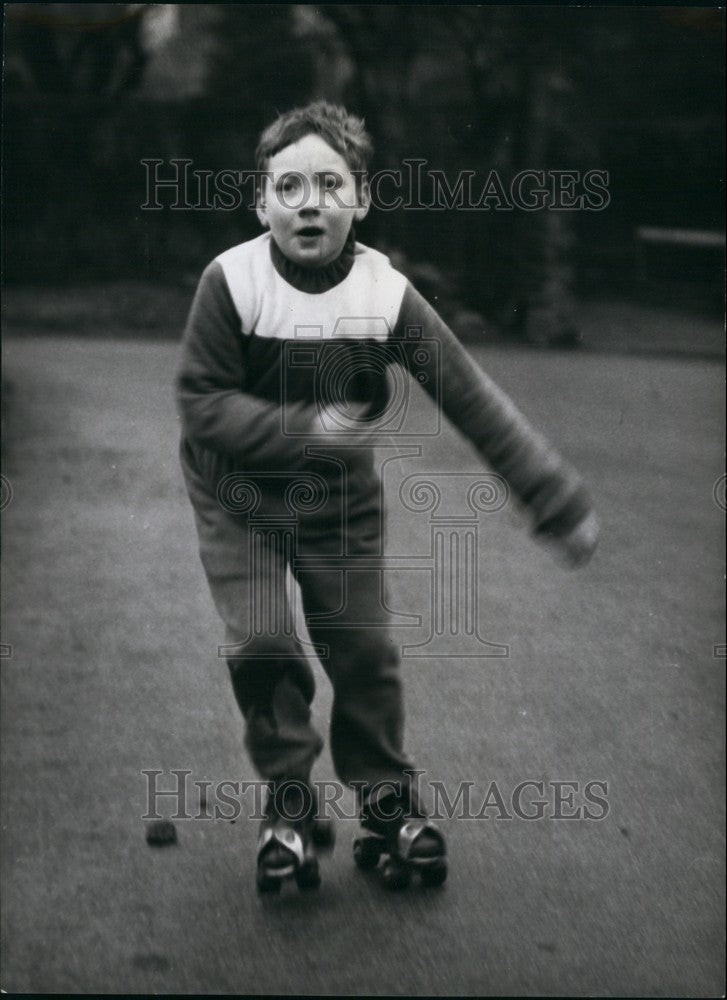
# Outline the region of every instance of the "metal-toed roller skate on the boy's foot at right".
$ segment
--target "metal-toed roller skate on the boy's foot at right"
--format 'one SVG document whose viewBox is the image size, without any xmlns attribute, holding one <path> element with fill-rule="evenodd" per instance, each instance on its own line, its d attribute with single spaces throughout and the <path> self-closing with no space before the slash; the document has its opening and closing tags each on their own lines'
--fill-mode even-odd
<svg viewBox="0 0 727 1000">
<path fill-rule="evenodd" d="M 361 836 L 353 842 L 353 859 L 361 871 L 380 866 L 389 889 L 406 889 L 412 875 L 422 885 L 440 886 L 447 878 L 444 837 L 419 808 L 413 792 L 391 793 L 361 810 Z"/>
</svg>

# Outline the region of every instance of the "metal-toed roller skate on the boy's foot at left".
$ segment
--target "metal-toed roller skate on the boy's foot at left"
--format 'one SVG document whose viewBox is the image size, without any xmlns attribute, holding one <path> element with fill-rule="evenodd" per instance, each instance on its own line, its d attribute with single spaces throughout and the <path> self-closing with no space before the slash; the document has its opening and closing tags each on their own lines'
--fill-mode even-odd
<svg viewBox="0 0 727 1000">
<path fill-rule="evenodd" d="M 293 880 L 301 891 L 321 884 L 318 855 L 333 850 L 335 829 L 327 818 L 316 818 L 317 799 L 308 785 L 286 781 L 271 785 L 260 827 L 257 850 L 257 891 L 280 892 Z"/>
</svg>

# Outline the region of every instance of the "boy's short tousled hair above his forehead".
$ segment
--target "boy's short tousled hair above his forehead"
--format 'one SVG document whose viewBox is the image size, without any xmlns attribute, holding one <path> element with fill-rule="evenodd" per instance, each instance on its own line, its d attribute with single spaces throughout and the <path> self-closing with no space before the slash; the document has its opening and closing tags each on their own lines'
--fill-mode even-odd
<svg viewBox="0 0 727 1000">
<path fill-rule="evenodd" d="M 319 135 L 344 158 L 350 170 L 365 173 L 373 152 L 371 136 L 363 118 L 350 115 L 340 104 L 314 101 L 279 115 L 260 136 L 256 151 L 257 169 L 267 170 L 272 156 L 306 135 Z"/>
</svg>

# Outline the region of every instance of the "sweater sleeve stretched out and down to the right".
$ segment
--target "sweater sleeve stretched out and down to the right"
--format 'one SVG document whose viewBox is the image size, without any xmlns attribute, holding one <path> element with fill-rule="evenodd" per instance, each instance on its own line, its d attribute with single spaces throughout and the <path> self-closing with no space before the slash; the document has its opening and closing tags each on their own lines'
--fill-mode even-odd
<svg viewBox="0 0 727 1000">
<path fill-rule="evenodd" d="M 512 400 L 475 363 L 437 312 L 410 284 L 393 331 L 405 365 L 422 371 L 421 346 L 407 336 L 416 327 L 438 344 L 424 352 L 424 388 L 441 403 L 448 420 L 468 438 L 492 469 L 502 475 L 533 514 L 536 534 L 562 537 L 591 510 L 580 477 L 528 423 Z M 414 360 L 416 359 L 416 360 Z"/>
</svg>

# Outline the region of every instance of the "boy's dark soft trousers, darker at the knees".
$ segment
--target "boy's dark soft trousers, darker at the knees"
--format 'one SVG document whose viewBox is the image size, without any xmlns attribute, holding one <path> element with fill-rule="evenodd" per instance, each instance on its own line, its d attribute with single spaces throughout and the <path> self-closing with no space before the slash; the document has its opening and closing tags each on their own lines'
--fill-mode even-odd
<svg viewBox="0 0 727 1000">
<path fill-rule="evenodd" d="M 290 568 L 315 655 L 333 685 L 330 740 L 338 777 L 367 787 L 406 782 L 412 765 L 402 750 L 399 654 L 383 571 L 371 567 L 371 557 L 382 555 L 375 497 L 347 505 L 343 518 L 340 497 L 292 521 L 264 516 L 276 509 L 264 497 L 253 513 L 230 513 L 197 470 L 184 462 L 183 469 L 202 563 L 233 646 L 226 658 L 258 774 L 307 781 L 322 748 L 310 714 L 314 650 L 295 634 Z"/>
</svg>

